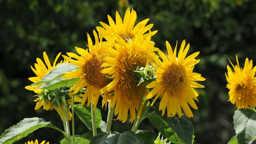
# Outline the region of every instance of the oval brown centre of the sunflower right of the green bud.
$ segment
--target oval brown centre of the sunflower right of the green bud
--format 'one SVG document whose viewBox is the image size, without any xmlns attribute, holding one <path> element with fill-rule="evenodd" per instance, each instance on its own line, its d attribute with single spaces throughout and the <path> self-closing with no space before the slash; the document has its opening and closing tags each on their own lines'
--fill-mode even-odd
<svg viewBox="0 0 256 144">
<path fill-rule="evenodd" d="M 178 97 L 186 86 L 186 70 L 183 66 L 170 65 L 163 72 L 164 89 L 174 98 Z"/>
</svg>

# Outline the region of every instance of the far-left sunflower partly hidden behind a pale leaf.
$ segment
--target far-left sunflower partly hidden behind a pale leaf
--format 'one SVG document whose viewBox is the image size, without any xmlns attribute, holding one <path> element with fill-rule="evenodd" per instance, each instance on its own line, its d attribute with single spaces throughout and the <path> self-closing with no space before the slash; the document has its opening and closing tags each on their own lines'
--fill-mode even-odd
<svg viewBox="0 0 256 144">
<path fill-rule="evenodd" d="M 36 61 L 37 63 L 35 63 L 35 68 L 33 68 L 31 66 L 31 69 L 33 70 L 33 72 L 36 74 L 36 77 L 31 77 L 31 78 L 28 78 L 30 81 L 36 83 L 36 82 L 39 82 L 40 80 L 42 80 L 42 78 L 44 78 L 44 76 L 50 72 L 52 69 L 54 69 L 56 66 L 58 66 L 59 64 L 62 64 L 62 63 L 65 63 L 65 62 L 68 62 L 66 60 L 64 61 L 60 61 L 59 63 L 56 64 L 59 56 L 60 56 L 61 53 L 59 53 L 55 60 L 54 60 L 54 63 L 51 65 L 50 64 L 50 60 L 46 54 L 46 52 L 43 53 L 43 56 L 44 56 L 44 62 L 46 63 L 46 65 L 44 64 L 44 62 L 40 59 L 40 58 L 37 58 Z M 47 66 L 47 67 L 46 67 Z M 43 90 L 43 89 L 36 89 L 37 87 L 40 87 L 42 84 L 40 85 L 36 85 L 36 86 L 26 86 L 25 88 L 27 90 L 33 90 L 37 95 L 35 96 L 36 97 L 36 100 L 34 100 L 36 102 L 36 107 L 35 107 L 35 110 L 38 110 L 39 108 L 41 108 L 43 106 L 43 109 L 44 110 L 56 110 L 58 112 L 58 114 L 60 115 L 60 109 L 58 108 L 57 104 L 53 104 L 50 99 L 53 100 L 53 98 L 51 98 L 50 96 L 50 91 L 48 90 Z M 68 100 L 66 100 L 66 102 L 68 104 L 71 104 L 70 100 L 71 100 L 71 93 L 68 94 L 68 96 L 70 97 Z M 50 98 L 50 99 L 49 99 Z M 82 99 L 79 97 L 79 96 L 75 96 L 74 98 L 74 102 L 80 102 Z M 61 103 L 61 107 L 62 107 L 62 111 L 63 111 L 63 104 Z M 65 115 L 65 113 L 64 113 Z M 68 111 L 68 119 L 71 120 L 72 118 L 72 114 L 70 111 Z"/>
</svg>

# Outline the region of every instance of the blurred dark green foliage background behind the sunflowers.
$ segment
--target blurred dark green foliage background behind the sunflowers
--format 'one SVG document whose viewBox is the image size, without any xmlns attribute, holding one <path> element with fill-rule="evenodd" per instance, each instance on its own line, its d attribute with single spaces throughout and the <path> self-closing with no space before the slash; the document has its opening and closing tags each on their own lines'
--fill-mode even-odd
<svg viewBox="0 0 256 144">
<path fill-rule="evenodd" d="M 127 7 L 134 8 L 137 21 L 150 18 L 152 30 L 158 30 L 152 40 L 155 46 L 166 51 L 165 41 L 173 48 L 178 40 L 190 43 L 189 54 L 200 51 L 200 63 L 194 68 L 206 81 L 198 89 L 198 110 L 192 110 L 195 144 L 227 143 L 235 135 L 234 110 L 228 102 L 225 72 L 238 55 L 241 66 L 245 58 L 256 62 L 256 1 L 255 0 L 0 0 L 0 134 L 23 118 L 39 117 L 63 129 L 56 111 L 35 111 L 34 93 L 24 87 L 35 76 L 36 58 L 46 51 L 53 62 L 62 52 L 75 52 L 74 46 L 87 48 L 88 32 L 99 21 L 108 24 L 107 14 L 115 19 L 115 12 L 123 16 Z M 122 17 L 123 18 L 123 17 Z M 99 102 L 100 104 L 100 102 Z M 101 108 L 98 105 L 98 108 Z M 102 110 L 103 120 L 106 111 Z M 114 121 L 112 130 L 124 132 L 130 123 Z M 139 129 L 154 130 L 148 120 Z M 88 131 L 76 117 L 76 134 Z M 22 138 L 47 140 L 50 144 L 62 139 L 50 128 L 42 128 Z"/>
</svg>

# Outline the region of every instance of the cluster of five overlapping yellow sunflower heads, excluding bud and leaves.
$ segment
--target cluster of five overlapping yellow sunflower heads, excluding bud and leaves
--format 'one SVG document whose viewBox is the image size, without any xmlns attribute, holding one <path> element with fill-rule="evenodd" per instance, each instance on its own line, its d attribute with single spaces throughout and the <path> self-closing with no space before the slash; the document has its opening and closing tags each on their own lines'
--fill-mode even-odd
<svg viewBox="0 0 256 144">
<path fill-rule="evenodd" d="M 153 24 L 146 26 L 149 20 L 146 19 L 134 26 L 136 12 L 134 10 L 130 12 L 130 8 L 126 10 L 124 21 L 118 12 L 116 12 L 116 22 L 109 15 L 108 20 L 109 26 L 100 22 L 103 27 L 96 27 L 98 34 L 95 30 L 93 31 L 95 44 L 87 34 L 88 49 L 75 47 L 79 55 L 68 52 L 68 56 L 63 55 L 65 60 L 56 64 L 56 60 L 60 56 L 58 54 L 54 64 L 51 65 L 44 52 L 44 61 L 48 68 L 38 58 L 35 69 L 31 67 L 37 77 L 29 78 L 29 80 L 38 82 L 54 67 L 70 62 L 78 66 L 77 70 L 67 72 L 62 78 L 79 78 L 76 84 L 70 88 L 72 94 L 77 94 L 86 88 L 82 96 L 81 94 L 76 96 L 75 102 L 81 102 L 84 105 L 87 100 L 87 106 L 92 103 L 95 109 L 100 95 L 103 95 L 102 106 L 110 103 L 111 108 L 115 107 L 114 114 L 118 115 L 117 119 L 122 122 L 126 122 L 128 112 L 130 112 L 130 122 L 133 122 L 136 112 L 139 111 L 140 99 L 146 97 L 148 100 L 155 96 L 152 104 L 157 98 L 161 98 L 159 109 L 162 110 L 162 114 L 167 108 L 168 117 L 174 116 L 176 112 L 178 112 L 178 116 L 182 116 L 182 107 L 186 116 L 193 116 L 188 104 L 197 109 L 193 99 L 197 100 L 198 93 L 194 88 L 204 88 L 194 81 L 205 80 L 200 74 L 192 72 L 194 66 L 200 61 L 195 59 L 199 52 L 186 58 L 189 44 L 185 48 L 184 40 L 178 57 L 176 57 L 177 45 L 173 51 L 166 41 L 168 52 L 166 56 L 164 52 L 155 48 L 154 42 L 151 41 L 151 36 L 157 32 L 150 31 Z M 146 32 L 148 33 L 145 34 Z M 102 38 L 105 38 L 106 41 L 103 41 Z M 156 51 L 163 61 L 154 53 Z M 156 81 L 153 81 L 152 78 L 150 81 L 138 85 L 139 80 L 134 74 L 134 70 L 146 66 L 147 63 L 155 68 L 154 79 Z M 34 89 L 39 86 L 26 86 L 28 90 L 38 93 L 38 98 L 35 100 L 37 102 L 36 109 L 44 106 L 43 108 L 46 110 L 55 109 L 59 113 L 58 106 L 52 104 L 49 97 L 42 94 L 41 89 Z M 147 89 L 143 92 L 145 86 Z M 151 92 L 149 92 L 149 88 L 153 88 Z M 45 90 L 43 92 L 45 93 Z"/>
</svg>

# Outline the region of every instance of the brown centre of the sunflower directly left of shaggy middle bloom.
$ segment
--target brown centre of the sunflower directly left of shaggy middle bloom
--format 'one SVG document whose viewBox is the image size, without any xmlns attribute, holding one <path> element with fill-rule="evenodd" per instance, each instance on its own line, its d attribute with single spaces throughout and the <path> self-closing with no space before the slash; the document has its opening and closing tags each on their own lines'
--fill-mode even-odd
<svg viewBox="0 0 256 144">
<path fill-rule="evenodd" d="M 84 64 L 84 75 L 89 84 L 98 86 L 99 88 L 103 88 L 109 84 L 110 81 L 105 77 L 107 74 L 100 73 L 104 69 L 101 68 L 101 65 L 105 62 L 104 58 L 106 56 L 109 56 L 109 54 L 103 52 L 96 53 Z"/>
</svg>

